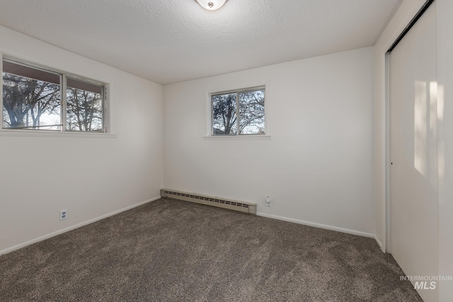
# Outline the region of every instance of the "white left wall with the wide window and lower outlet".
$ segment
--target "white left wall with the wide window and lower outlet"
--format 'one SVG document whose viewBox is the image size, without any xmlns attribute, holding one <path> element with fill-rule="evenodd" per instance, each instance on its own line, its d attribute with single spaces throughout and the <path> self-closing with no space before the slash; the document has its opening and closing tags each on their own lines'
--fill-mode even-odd
<svg viewBox="0 0 453 302">
<path fill-rule="evenodd" d="M 159 197 L 162 86 L 4 27 L 0 52 L 110 83 L 115 134 L 0 132 L 0 253 Z"/>
</svg>

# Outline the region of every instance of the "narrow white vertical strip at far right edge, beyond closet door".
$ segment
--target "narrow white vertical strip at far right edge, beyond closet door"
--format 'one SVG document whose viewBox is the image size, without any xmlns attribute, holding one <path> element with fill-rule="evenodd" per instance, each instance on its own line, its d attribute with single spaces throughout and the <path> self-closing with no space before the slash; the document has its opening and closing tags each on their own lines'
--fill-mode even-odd
<svg viewBox="0 0 453 302">
<path fill-rule="evenodd" d="M 453 276 L 453 1 L 437 0 L 439 274 Z M 453 282 L 439 284 L 439 301 L 453 301 Z"/>
</svg>

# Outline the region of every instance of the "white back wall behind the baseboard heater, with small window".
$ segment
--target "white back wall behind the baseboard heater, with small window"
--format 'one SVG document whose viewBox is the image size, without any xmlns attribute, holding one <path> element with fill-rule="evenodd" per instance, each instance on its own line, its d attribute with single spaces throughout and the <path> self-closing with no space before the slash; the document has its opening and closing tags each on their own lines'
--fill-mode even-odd
<svg viewBox="0 0 453 302">
<path fill-rule="evenodd" d="M 164 86 L 165 187 L 374 236 L 372 58 L 368 47 Z M 263 83 L 270 139 L 203 137 L 207 93 Z"/>
</svg>

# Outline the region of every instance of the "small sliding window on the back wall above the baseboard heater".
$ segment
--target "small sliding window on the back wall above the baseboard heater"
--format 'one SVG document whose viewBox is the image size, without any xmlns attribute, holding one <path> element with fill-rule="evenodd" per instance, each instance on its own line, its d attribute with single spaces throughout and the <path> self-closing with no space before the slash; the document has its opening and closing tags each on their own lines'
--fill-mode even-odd
<svg viewBox="0 0 453 302">
<path fill-rule="evenodd" d="M 211 94 L 212 135 L 265 134 L 265 87 Z"/>
</svg>

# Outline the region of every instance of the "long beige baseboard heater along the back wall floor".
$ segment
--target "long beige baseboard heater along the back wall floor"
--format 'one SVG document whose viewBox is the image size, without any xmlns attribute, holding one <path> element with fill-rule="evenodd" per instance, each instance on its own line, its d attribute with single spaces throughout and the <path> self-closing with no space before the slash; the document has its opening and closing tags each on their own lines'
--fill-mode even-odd
<svg viewBox="0 0 453 302">
<path fill-rule="evenodd" d="M 253 204 L 252 202 L 239 202 L 233 199 L 225 199 L 168 189 L 161 189 L 161 197 L 174 198 L 184 200 L 185 202 L 195 202 L 197 204 L 205 204 L 207 206 L 241 211 L 243 213 L 256 215 L 256 204 Z"/>
</svg>

